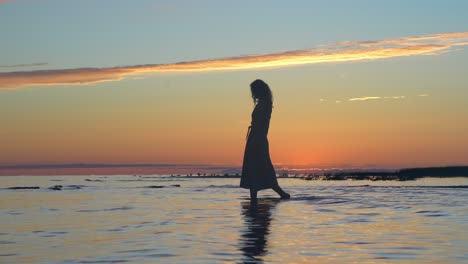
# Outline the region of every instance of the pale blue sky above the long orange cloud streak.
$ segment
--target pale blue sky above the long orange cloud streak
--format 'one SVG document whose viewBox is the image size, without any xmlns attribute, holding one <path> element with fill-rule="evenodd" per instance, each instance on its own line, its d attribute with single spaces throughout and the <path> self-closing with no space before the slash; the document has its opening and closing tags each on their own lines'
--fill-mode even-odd
<svg viewBox="0 0 468 264">
<path fill-rule="evenodd" d="M 48 1 L 0 6 L 2 65 L 104 67 L 466 30 L 464 1 Z"/>
</svg>

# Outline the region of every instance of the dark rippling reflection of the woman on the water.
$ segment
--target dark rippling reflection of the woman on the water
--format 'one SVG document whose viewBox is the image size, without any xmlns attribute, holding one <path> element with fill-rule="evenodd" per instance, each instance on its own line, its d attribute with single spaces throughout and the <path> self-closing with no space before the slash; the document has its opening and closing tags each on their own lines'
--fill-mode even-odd
<svg viewBox="0 0 468 264">
<path fill-rule="evenodd" d="M 267 239 L 270 233 L 272 210 L 279 199 L 260 199 L 258 203 L 241 203 L 245 229 L 241 232 L 241 250 L 244 263 L 262 261 L 268 251 Z"/>
</svg>

